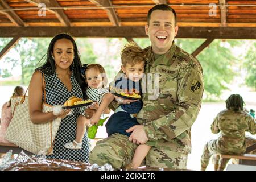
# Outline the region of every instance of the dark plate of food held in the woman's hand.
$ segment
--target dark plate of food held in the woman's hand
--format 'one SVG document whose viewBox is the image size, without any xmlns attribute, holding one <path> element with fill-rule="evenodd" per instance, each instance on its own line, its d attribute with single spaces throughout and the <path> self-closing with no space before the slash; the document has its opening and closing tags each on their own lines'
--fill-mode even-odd
<svg viewBox="0 0 256 182">
<path fill-rule="evenodd" d="M 69 98 L 63 105 L 63 109 L 75 109 L 78 107 L 84 107 L 84 106 L 89 106 L 92 105 L 96 101 L 92 100 L 86 100 L 84 101 L 82 98 L 77 98 L 75 96 L 72 96 Z"/>
</svg>

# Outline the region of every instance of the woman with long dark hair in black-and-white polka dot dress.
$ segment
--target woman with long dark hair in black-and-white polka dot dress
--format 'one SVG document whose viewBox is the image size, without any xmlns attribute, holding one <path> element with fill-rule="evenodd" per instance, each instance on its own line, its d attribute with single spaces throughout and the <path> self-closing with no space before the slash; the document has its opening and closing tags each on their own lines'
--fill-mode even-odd
<svg viewBox="0 0 256 182">
<path fill-rule="evenodd" d="M 43 73 L 46 82 L 46 102 L 50 105 L 63 105 L 71 96 L 86 97 L 86 82 L 80 73 L 81 61 L 75 40 L 68 34 L 56 35 L 49 44 L 46 62 L 36 68 L 32 75 L 28 90 L 30 117 L 33 123 L 46 123 L 61 118 L 57 131 L 53 154 L 46 156 L 51 159 L 66 159 L 88 162 L 89 144 L 87 135 L 82 139 L 80 150 L 69 150 L 64 144 L 76 137 L 76 119 L 79 109 L 62 110 L 59 114 L 42 113 Z"/>
</svg>

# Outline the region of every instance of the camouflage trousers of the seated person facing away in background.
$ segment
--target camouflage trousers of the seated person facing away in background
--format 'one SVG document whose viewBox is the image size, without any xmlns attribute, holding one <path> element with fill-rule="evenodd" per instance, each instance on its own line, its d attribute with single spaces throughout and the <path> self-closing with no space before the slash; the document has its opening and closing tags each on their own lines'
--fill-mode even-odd
<svg viewBox="0 0 256 182">
<path fill-rule="evenodd" d="M 207 142 L 207 144 L 204 146 L 204 151 L 203 151 L 203 155 L 201 156 L 201 168 L 205 169 L 208 166 L 210 157 L 213 154 L 221 154 L 222 152 L 218 149 L 218 146 L 216 145 L 216 141 L 217 140 L 210 140 L 209 142 Z M 245 142 L 246 142 L 246 148 L 248 149 L 250 146 L 252 146 L 253 144 L 256 143 L 256 139 L 253 137 L 246 137 L 245 138 Z M 256 150 L 253 151 L 248 151 L 246 150 L 246 153 L 249 154 L 256 154 Z M 226 164 L 229 162 L 229 159 L 223 159 L 220 158 L 219 155 L 214 156 L 213 158 L 213 164 L 218 164 L 218 171 L 222 171 L 225 169 Z"/>
</svg>

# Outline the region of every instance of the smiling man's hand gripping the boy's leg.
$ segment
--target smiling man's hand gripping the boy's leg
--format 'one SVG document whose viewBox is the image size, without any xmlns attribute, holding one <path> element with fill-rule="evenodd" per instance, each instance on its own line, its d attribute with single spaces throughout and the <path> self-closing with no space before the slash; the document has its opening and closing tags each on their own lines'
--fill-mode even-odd
<svg viewBox="0 0 256 182">
<path fill-rule="evenodd" d="M 134 144 L 145 144 L 148 141 L 143 125 L 135 125 L 130 127 L 130 129 L 126 130 L 126 132 L 133 132 L 129 137 L 129 141 L 133 142 Z"/>
</svg>

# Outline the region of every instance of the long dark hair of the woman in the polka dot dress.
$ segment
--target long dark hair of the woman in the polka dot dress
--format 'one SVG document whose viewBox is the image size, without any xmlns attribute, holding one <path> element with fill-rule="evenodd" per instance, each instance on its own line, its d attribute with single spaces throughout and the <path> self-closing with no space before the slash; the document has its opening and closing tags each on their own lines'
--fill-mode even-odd
<svg viewBox="0 0 256 182">
<path fill-rule="evenodd" d="M 82 63 L 81 63 L 81 60 L 80 60 L 80 53 L 79 53 L 79 51 L 77 49 L 76 42 L 72 38 L 72 36 L 70 36 L 68 34 L 56 35 L 51 40 L 51 42 L 49 44 L 49 47 L 48 47 L 48 50 L 47 50 L 47 53 L 39 61 L 39 63 L 40 63 L 42 60 L 45 60 L 44 63 L 41 64 L 41 65 L 39 65 L 39 63 L 38 63 L 36 66 L 39 65 L 39 67 L 36 68 L 35 71 L 39 70 L 39 71 L 45 73 L 46 75 L 52 75 L 52 74 L 55 73 L 56 67 L 55 67 L 55 61 L 52 58 L 52 52 L 53 52 L 54 44 L 59 39 L 68 39 L 68 40 L 70 40 L 73 43 L 73 47 L 74 47 L 74 60 L 73 60 L 73 64 L 71 64 L 69 69 L 71 71 L 73 71 L 73 73 L 74 73 L 74 75 L 76 77 L 77 82 L 79 82 L 79 84 L 81 85 L 82 93 L 83 93 L 84 98 L 87 98 L 86 94 L 85 94 L 87 84 L 85 82 L 84 76 L 82 76 L 81 71 L 80 71 L 81 66 L 82 66 Z"/>
</svg>

